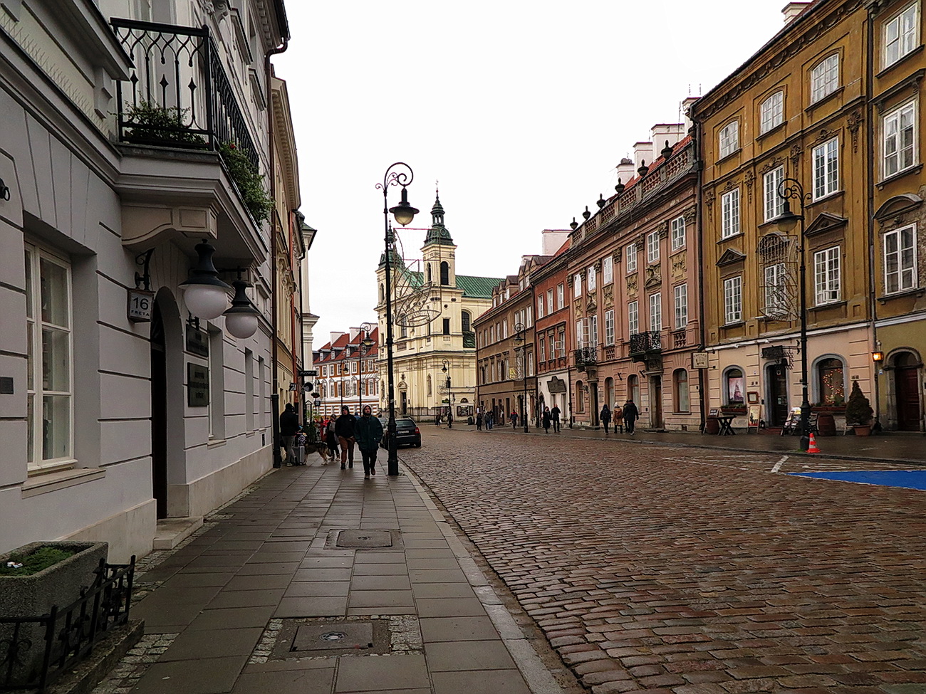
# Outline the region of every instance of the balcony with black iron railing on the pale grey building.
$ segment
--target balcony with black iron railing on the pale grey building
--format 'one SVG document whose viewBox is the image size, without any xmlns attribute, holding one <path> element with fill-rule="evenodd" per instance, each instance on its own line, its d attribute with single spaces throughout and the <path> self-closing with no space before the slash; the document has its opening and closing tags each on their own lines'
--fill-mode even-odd
<svg viewBox="0 0 926 694">
<path fill-rule="evenodd" d="M 189 251 L 213 238 L 226 264 L 263 260 L 268 238 L 219 151 L 233 145 L 258 169 L 260 153 L 208 29 L 110 24 L 132 63 L 116 92 L 123 245 L 173 241 Z"/>
</svg>

